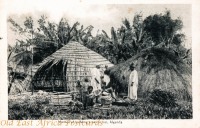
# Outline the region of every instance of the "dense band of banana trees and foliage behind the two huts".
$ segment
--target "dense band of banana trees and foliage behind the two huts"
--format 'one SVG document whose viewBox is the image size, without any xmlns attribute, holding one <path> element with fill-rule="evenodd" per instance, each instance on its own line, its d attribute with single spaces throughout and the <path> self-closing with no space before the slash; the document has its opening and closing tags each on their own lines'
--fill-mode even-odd
<svg viewBox="0 0 200 128">
<path fill-rule="evenodd" d="M 12 18 L 9 18 L 8 22 L 12 24 L 13 31 L 24 37 L 17 40 L 15 52 L 27 51 L 27 47 L 33 45 L 34 64 L 41 62 L 70 40 L 83 43 L 114 64 L 123 62 L 142 49 L 153 46 L 171 47 L 179 55 L 185 55 L 187 51 L 181 47 L 185 39 L 185 35 L 181 33 L 183 23 L 180 18 L 172 19 L 169 11 L 164 14 L 150 15 L 144 20 L 142 14 L 136 14 L 132 24 L 124 19 L 120 28 L 111 27 L 111 37 L 104 30 L 92 36 L 93 26 L 84 28 L 79 22 L 70 26 L 65 18 L 62 18 L 58 24 L 50 22 L 44 15 L 37 20 L 37 25 L 31 17 L 26 18 L 24 26 L 19 25 Z M 12 49 L 14 48 L 10 48 L 10 51 Z"/>
</svg>

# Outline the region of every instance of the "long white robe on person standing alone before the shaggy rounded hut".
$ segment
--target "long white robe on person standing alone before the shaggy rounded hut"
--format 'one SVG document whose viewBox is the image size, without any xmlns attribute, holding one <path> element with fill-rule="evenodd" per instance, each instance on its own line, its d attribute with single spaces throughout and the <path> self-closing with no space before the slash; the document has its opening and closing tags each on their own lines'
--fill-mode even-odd
<svg viewBox="0 0 200 128">
<path fill-rule="evenodd" d="M 131 84 L 133 83 L 133 86 Z M 138 73 L 133 70 L 129 76 L 128 85 L 128 97 L 133 100 L 137 100 L 137 89 L 138 89 Z"/>
</svg>

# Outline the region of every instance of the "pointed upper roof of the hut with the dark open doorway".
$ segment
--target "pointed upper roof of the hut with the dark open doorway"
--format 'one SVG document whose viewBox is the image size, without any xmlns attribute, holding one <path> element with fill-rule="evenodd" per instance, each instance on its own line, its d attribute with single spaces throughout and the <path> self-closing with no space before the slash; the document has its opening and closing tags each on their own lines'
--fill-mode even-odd
<svg viewBox="0 0 200 128">
<path fill-rule="evenodd" d="M 108 65 L 108 67 L 113 66 L 111 62 L 109 62 L 106 58 L 104 58 L 100 54 L 92 51 L 91 49 L 75 41 L 69 42 L 67 45 L 63 46 L 55 53 L 48 56 L 38 66 L 53 59 L 67 60 L 68 62 L 70 62 L 70 64 L 78 64 L 82 67 L 94 68 L 96 65 Z M 36 70 L 38 66 L 35 67 Z"/>
</svg>

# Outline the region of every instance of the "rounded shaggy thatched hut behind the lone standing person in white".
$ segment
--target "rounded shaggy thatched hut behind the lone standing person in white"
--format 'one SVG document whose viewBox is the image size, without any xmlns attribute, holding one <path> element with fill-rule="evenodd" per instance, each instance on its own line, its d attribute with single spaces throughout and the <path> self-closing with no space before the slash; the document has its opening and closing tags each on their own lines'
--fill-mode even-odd
<svg viewBox="0 0 200 128">
<path fill-rule="evenodd" d="M 192 96 L 192 68 L 167 48 L 146 49 L 108 71 L 113 87 L 127 92 L 129 66 L 136 64 L 139 75 L 139 97 L 160 89 L 172 92 L 178 99 L 190 100 Z"/>
</svg>

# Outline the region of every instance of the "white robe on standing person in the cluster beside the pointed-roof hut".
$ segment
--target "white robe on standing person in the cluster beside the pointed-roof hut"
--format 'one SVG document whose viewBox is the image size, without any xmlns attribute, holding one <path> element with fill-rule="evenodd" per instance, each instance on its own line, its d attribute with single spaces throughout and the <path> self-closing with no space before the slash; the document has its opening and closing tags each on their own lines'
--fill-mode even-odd
<svg viewBox="0 0 200 128">
<path fill-rule="evenodd" d="M 94 94 L 97 96 L 98 93 L 101 91 L 101 79 L 100 79 L 101 73 L 99 69 L 93 68 L 91 70 L 91 75 L 92 75 L 91 86 L 93 87 Z M 96 80 L 98 80 L 99 83 Z"/>
</svg>

